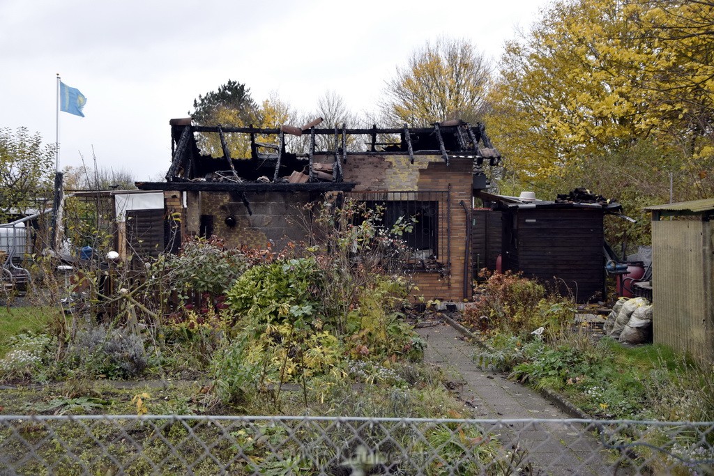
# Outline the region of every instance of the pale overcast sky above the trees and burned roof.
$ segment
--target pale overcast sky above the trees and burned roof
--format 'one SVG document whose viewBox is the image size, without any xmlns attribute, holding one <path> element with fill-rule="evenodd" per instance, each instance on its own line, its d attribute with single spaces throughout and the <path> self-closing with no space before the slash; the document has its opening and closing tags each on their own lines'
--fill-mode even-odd
<svg viewBox="0 0 714 476">
<path fill-rule="evenodd" d="M 375 111 L 385 81 L 438 36 L 496 61 L 548 0 L 136 1 L 0 0 L 0 127 L 55 141 L 56 74 L 87 98 L 61 112 L 60 168 L 163 176 L 169 119 L 228 79 L 260 103 L 275 91 L 299 111 L 327 91 Z M 352 6 L 354 5 L 354 6 Z"/>
</svg>

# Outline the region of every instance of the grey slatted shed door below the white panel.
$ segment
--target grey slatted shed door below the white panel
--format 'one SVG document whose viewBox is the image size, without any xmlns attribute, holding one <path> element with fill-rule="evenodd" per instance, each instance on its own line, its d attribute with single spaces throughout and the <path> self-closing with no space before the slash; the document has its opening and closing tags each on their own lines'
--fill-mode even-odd
<svg viewBox="0 0 714 476">
<path fill-rule="evenodd" d="M 126 252 L 158 258 L 164 251 L 164 210 L 126 211 Z"/>
</svg>

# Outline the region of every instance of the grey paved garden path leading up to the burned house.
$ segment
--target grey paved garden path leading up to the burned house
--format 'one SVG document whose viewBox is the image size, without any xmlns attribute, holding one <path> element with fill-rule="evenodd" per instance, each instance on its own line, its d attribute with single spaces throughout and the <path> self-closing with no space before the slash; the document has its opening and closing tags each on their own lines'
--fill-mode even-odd
<svg viewBox="0 0 714 476">
<path fill-rule="evenodd" d="M 506 380 L 503 373 L 481 370 L 473 361 L 479 348 L 451 325 L 438 323 L 417 329 L 426 339 L 424 360 L 438 365 L 449 387 L 463 400 L 473 417 L 483 420 L 568 419 L 539 393 Z M 497 432 L 506 447 L 527 450 L 526 459 L 538 475 L 603 475 L 615 468 L 592 432 L 567 422 L 516 422 Z"/>
</svg>

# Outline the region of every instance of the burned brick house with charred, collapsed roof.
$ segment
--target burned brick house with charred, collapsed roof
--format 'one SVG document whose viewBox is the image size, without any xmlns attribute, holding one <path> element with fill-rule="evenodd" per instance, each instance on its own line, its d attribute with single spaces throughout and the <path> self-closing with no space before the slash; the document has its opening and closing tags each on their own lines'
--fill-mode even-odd
<svg viewBox="0 0 714 476">
<path fill-rule="evenodd" d="M 463 121 L 428 128 L 303 128 L 171 124 L 173 158 L 165 182 L 165 214 L 182 236 L 218 236 L 228 245 L 282 248 L 308 236 L 300 206 L 338 194 L 384 207 L 386 226 L 417 217 L 403 238 L 414 250 L 413 271 L 427 299 L 471 297 L 471 203 L 486 186 L 484 166 L 498 152 L 483 125 Z M 219 157 L 201 153 L 202 138 L 220 144 Z M 229 138 L 246 144 L 234 157 Z"/>
</svg>

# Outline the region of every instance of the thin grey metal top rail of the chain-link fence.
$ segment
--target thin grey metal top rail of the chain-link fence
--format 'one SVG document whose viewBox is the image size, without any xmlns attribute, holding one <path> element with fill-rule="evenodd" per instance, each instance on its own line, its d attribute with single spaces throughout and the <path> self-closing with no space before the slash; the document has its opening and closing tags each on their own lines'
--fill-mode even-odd
<svg viewBox="0 0 714 476">
<path fill-rule="evenodd" d="M 398 418 L 398 417 L 324 417 L 300 415 L 0 415 L 0 422 L 11 420 L 233 420 L 233 421 L 327 421 L 367 423 L 456 423 L 510 425 L 516 423 L 567 423 L 573 425 L 647 425 L 658 427 L 711 426 L 714 422 L 665 422 L 660 420 L 595 420 L 587 418 L 510 418 L 503 420 L 478 418 Z"/>
</svg>

